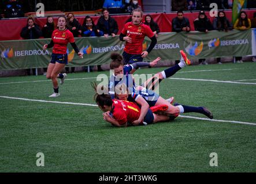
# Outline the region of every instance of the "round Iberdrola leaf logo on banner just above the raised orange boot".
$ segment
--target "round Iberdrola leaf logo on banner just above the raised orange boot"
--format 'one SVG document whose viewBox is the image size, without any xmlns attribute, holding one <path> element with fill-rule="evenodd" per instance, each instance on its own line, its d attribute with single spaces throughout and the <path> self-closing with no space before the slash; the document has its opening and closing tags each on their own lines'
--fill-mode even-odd
<svg viewBox="0 0 256 184">
<path fill-rule="evenodd" d="M 196 35 L 190 35 L 184 41 L 185 51 L 191 56 L 198 56 L 203 51 L 203 41 Z"/>
</svg>

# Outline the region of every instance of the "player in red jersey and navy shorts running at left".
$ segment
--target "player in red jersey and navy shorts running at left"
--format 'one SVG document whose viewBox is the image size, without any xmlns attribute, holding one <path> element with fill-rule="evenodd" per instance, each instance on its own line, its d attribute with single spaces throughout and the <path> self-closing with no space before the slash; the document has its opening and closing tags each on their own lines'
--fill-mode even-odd
<svg viewBox="0 0 256 184">
<path fill-rule="evenodd" d="M 53 47 L 51 62 L 48 65 L 46 74 L 46 78 L 51 79 L 51 81 L 53 82 L 54 93 L 49 97 L 60 96 L 57 78 L 61 79 L 60 84 L 62 85 L 64 83 L 66 74 L 61 74 L 60 72 L 65 67 L 65 64 L 68 64 L 68 54 L 66 53 L 68 43 L 71 43 L 77 55 L 79 55 L 80 58 L 83 58 L 83 53 L 79 52 L 73 34 L 68 29 L 66 29 L 66 24 L 66 17 L 59 17 L 58 29 L 55 29 L 53 31 L 50 44 L 43 45 L 44 50 Z"/>
</svg>

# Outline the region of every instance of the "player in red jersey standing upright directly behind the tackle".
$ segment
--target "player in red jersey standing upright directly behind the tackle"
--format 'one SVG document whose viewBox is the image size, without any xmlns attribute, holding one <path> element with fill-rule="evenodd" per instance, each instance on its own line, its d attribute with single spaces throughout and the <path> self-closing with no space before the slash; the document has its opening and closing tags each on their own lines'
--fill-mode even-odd
<svg viewBox="0 0 256 184">
<path fill-rule="evenodd" d="M 149 53 L 157 44 L 157 39 L 149 26 L 143 24 L 143 11 L 135 9 L 132 11 L 132 22 L 124 25 L 124 29 L 120 34 L 120 40 L 126 41 L 123 52 L 124 64 L 132 64 L 142 62 L 143 58 Z M 151 39 L 151 43 L 147 51 L 143 51 L 144 37 L 147 36 Z"/>
</svg>

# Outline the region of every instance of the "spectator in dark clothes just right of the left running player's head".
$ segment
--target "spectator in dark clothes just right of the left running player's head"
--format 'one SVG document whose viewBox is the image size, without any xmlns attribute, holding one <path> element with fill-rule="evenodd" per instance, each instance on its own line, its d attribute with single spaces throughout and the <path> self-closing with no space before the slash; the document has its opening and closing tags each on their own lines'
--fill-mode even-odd
<svg viewBox="0 0 256 184">
<path fill-rule="evenodd" d="M 67 28 L 71 31 L 74 37 L 79 37 L 79 34 L 82 33 L 81 25 L 79 21 L 75 18 L 73 13 L 68 13 L 66 15 L 68 19 Z M 69 73 L 69 67 L 65 67 L 66 73 Z M 71 72 L 75 73 L 75 67 L 71 67 Z"/>
</svg>

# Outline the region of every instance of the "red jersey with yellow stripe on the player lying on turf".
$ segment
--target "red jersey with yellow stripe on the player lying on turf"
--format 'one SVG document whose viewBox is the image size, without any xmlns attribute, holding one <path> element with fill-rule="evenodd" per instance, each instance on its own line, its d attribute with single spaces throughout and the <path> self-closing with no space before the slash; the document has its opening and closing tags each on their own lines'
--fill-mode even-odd
<svg viewBox="0 0 256 184">
<path fill-rule="evenodd" d="M 120 125 L 125 122 L 133 122 L 139 119 L 140 108 L 136 103 L 113 99 L 112 113 L 113 118 L 118 121 Z"/>
</svg>

